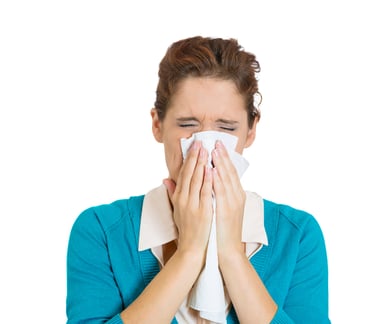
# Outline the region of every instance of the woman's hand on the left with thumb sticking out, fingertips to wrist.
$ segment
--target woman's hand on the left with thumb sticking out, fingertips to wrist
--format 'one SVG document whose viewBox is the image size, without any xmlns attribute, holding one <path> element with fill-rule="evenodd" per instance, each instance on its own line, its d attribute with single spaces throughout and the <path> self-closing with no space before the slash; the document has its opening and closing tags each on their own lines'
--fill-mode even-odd
<svg viewBox="0 0 388 324">
<path fill-rule="evenodd" d="M 178 228 L 178 251 L 203 253 L 209 240 L 212 207 L 212 174 L 206 166 L 208 153 L 195 141 L 183 161 L 177 182 L 163 181 L 172 203 Z"/>
</svg>

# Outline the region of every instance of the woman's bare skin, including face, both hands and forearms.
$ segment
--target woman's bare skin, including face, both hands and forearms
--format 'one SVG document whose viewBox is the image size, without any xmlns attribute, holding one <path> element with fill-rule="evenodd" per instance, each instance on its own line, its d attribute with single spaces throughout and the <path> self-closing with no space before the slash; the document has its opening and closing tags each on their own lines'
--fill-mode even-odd
<svg viewBox="0 0 388 324">
<path fill-rule="evenodd" d="M 238 137 L 240 154 L 255 140 L 242 96 L 232 81 L 187 78 L 172 98 L 163 121 L 151 110 L 155 139 L 163 143 L 169 178 L 164 180 L 179 232 L 176 250 L 143 293 L 121 313 L 124 323 L 170 323 L 204 265 L 212 220 L 212 190 L 217 203 L 220 271 L 240 323 L 269 323 L 277 310 L 241 243 L 245 192 L 221 142 L 208 153 L 194 142 L 183 161 L 180 139 L 217 130 Z M 212 154 L 214 168 L 206 167 Z M 236 279 L 238 278 L 238 279 Z M 166 302 L 168 301 L 168 302 Z"/>
</svg>

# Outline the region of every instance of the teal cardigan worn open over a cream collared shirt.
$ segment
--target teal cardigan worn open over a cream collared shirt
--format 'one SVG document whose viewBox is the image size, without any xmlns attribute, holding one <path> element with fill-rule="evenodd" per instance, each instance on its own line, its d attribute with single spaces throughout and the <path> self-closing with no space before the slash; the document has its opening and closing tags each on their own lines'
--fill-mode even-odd
<svg viewBox="0 0 388 324">
<path fill-rule="evenodd" d="M 151 250 L 138 251 L 143 198 L 89 208 L 75 221 L 67 255 L 68 324 L 122 323 L 120 312 L 158 273 Z M 268 246 L 250 262 L 278 305 L 271 323 L 330 323 L 319 224 L 306 212 L 268 200 L 264 221 Z M 238 323 L 233 308 L 228 323 Z"/>
</svg>

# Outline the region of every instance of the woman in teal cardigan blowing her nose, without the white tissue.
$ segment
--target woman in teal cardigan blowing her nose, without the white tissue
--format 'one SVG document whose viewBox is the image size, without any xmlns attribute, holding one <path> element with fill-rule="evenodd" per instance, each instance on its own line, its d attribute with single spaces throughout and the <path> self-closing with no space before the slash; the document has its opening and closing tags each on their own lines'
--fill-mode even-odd
<svg viewBox="0 0 388 324">
<path fill-rule="evenodd" d="M 234 136 L 242 155 L 260 119 L 259 70 L 234 39 L 192 37 L 168 48 L 151 110 L 168 178 L 78 217 L 68 323 L 215 322 L 193 297 L 214 292 L 197 294 L 213 229 L 225 297 L 218 322 L 330 323 L 326 249 L 313 216 L 245 192 L 222 140 L 214 150 L 200 140 L 182 149 L 183 139 L 216 131 Z"/>
</svg>

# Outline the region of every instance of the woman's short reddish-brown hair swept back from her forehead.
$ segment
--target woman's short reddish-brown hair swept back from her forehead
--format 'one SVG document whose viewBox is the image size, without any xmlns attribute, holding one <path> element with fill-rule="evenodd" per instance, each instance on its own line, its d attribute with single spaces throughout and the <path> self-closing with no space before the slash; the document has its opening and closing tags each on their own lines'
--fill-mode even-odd
<svg viewBox="0 0 388 324">
<path fill-rule="evenodd" d="M 167 49 L 159 64 L 155 101 L 158 117 L 164 119 L 180 81 L 187 77 L 214 77 L 234 82 L 245 98 L 251 128 L 255 118 L 260 119 L 261 94 L 256 78 L 259 72 L 255 55 L 244 51 L 236 39 L 196 36 L 177 41 Z M 255 96 L 259 97 L 257 107 Z"/>
</svg>

